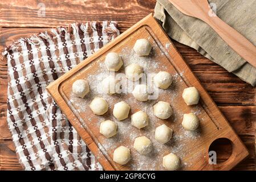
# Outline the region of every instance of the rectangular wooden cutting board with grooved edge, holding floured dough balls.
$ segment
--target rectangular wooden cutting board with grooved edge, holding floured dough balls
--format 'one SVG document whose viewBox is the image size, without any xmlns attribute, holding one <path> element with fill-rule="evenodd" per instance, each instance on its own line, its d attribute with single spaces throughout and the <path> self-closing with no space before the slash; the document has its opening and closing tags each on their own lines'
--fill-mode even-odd
<svg viewBox="0 0 256 182">
<path fill-rule="evenodd" d="M 139 57 L 132 51 L 136 40 L 141 38 L 151 42 L 153 46 L 151 55 Z M 124 73 L 125 65 L 138 63 L 145 73 L 168 71 L 173 76 L 173 83 L 167 90 L 160 89 L 157 100 L 147 102 L 136 101 L 131 93 L 113 96 L 97 93 L 96 90 L 99 89 L 97 84 L 105 77 L 104 74 L 108 73 L 104 66 L 105 55 L 108 52 L 118 52 L 121 55 L 124 66 L 120 69 L 120 73 Z M 72 83 L 82 78 L 88 81 L 91 89 L 90 94 L 83 99 L 72 94 Z M 182 100 L 182 91 L 189 86 L 195 86 L 200 92 L 198 105 L 186 106 Z M 229 170 L 249 154 L 224 115 L 202 88 L 151 14 L 70 72 L 52 82 L 47 86 L 47 90 L 105 170 L 163 170 L 162 156 L 169 152 L 180 156 L 182 170 Z M 88 107 L 92 98 L 96 96 L 104 97 L 109 104 L 109 110 L 103 116 L 94 115 Z M 128 102 L 131 106 L 129 116 L 138 110 L 146 111 L 149 115 L 149 126 L 139 130 L 131 125 L 130 117 L 121 122 L 113 118 L 113 105 L 121 100 Z M 172 117 L 161 120 L 152 114 L 152 106 L 157 101 L 170 103 L 174 110 Z M 190 112 L 197 114 L 200 118 L 200 127 L 197 131 L 182 129 L 182 115 Z M 113 138 L 105 139 L 99 133 L 100 121 L 105 119 L 111 119 L 118 125 L 118 134 Z M 160 144 L 154 138 L 155 128 L 163 123 L 173 129 L 173 138 L 166 144 Z M 132 148 L 134 139 L 141 135 L 147 136 L 153 143 L 153 151 L 146 156 L 139 155 Z M 209 147 L 220 138 L 229 139 L 233 151 L 225 162 L 211 165 L 209 164 Z M 120 166 L 112 160 L 113 151 L 120 145 L 131 148 L 132 160 L 125 166 Z"/>
</svg>

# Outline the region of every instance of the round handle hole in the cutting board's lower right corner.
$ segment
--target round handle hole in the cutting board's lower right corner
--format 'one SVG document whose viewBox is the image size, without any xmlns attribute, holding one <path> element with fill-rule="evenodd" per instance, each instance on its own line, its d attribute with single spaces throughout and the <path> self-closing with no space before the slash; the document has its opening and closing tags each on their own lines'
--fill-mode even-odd
<svg viewBox="0 0 256 182">
<path fill-rule="evenodd" d="M 208 154 L 213 162 L 214 162 L 214 157 L 217 157 L 215 162 L 217 162 L 217 164 L 221 164 L 230 158 L 232 151 L 233 151 L 233 144 L 229 139 L 218 138 L 214 140 L 212 144 L 210 144 Z"/>
</svg>

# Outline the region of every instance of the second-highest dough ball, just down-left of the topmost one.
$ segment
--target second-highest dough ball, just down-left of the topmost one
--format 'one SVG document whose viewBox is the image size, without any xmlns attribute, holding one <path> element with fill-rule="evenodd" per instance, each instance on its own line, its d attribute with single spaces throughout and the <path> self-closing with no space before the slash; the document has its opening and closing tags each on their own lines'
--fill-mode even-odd
<svg viewBox="0 0 256 182">
<path fill-rule="evenodd" d="M 116 52 L 109 52 L 105 57 L 105 65 L 109 71 L 119 71 L 123 65 L 121 57 Z"/>
</svg>

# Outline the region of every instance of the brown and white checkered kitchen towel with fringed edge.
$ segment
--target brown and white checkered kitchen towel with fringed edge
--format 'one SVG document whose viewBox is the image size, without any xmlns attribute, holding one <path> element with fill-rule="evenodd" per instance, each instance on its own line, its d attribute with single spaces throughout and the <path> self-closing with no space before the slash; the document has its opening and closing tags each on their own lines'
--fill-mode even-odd
<svg viewBox="0 0 256 182">
<path fill-rule="evenodd" d="M 102 169 L 46 86 L 118 35 L 116 22 L 71 24 L 6 47 L 7 122 L 26 170 Z"/>
</svg>

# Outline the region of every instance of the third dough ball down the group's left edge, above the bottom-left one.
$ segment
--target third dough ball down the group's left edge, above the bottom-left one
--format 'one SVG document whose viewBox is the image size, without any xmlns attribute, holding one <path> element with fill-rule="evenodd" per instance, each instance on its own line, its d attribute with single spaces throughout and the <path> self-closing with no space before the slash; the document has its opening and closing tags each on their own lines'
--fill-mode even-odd
<svg viewBox="0 0 256 182">
<path fill-rule="evenodd" d="M 113 135 L 117 133 L 117 124 L 110 120 L 101 122 L 100 133 L 103 134 L 105 138 L 113 137 Z"/>
</svg>

